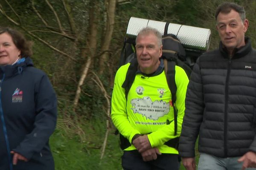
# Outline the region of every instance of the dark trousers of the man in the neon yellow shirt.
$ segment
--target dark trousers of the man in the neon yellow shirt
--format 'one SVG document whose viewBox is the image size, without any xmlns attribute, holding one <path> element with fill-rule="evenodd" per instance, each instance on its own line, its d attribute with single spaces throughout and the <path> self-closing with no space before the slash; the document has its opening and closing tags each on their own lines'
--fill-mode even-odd
<svg viewBox="0 0 256 170">
<path fill-rule="evenodd" d="M 162 153 L 156 160 L 143 161 L 137 150 L 124 151 L 122 156 L 124 170 L 178 170 L 180 159 L 177 154 Z"/>
</svg>

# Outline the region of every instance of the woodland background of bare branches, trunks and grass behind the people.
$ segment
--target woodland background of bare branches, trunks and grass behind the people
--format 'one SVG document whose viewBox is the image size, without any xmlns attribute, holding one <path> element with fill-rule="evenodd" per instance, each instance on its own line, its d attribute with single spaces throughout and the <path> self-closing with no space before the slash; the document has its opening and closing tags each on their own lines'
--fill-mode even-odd
<svg viewBox="0 0 256 170">
<path fill-rule="evenodd" d="M 244 6 L 256 44 L 255 0 Z M 223 0 L 0 0 L 0 26 L 34 42 L 32 59 L 58 95 L 50 139 L 56 170 L 121 170 L 122 150 L 111 124 L 110 100 L 130 17 L 209 28 L 218 47 L 215 9 Z M 181 167 L 183 169 L 183 167 Z"/>
</svg>

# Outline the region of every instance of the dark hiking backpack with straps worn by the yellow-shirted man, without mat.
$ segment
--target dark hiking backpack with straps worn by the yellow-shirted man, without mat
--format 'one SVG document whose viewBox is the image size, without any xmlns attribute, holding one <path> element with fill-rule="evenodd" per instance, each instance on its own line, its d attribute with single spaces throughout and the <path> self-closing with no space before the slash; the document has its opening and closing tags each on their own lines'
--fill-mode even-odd
<svg viewBox="0 0 256 170">
<path fill-rule="evenodd" d="M 177 36 L 174 34 L 164 34 L 162 37 L 163 42 L 163 54 L 162 58 L 164 61 L 164 71 L 166 74 L 167 83 L 172 94 L 172 106 L 174 110 L 174 124 L 175 124 L 175 134 L 177 134 L 177 109 L 175 107 L 176 102 L 176 91 L 177 86 L 175 84 L 175 65 L 180 66 L 186 72 L 188 78 L 192 72 L 191 60 L 187 59 L 186 51 L 183 45 L 178 40 Z M 125 97 L 127 99 L 128 92 L 131 85 L 134 82 L 136 71 L 138 68 L 138 62 L 135 52 L 135 39 L 125 39 L 124 47 L 121 52 L 120 66 L 130 62 L 125 81 L 122 84 L 122 88 L 125 88 Z M 169 121 L 167 121 L 169 122 Z M 169 122 L 170 123 L 170 122 Z M 167 123 L 168 124 L 168 123 Z M 131 146 L 128 139 L 126 139 L 122 134 L 120 134 L 120 147 L 124 150 L 125 148 Z M 165 144 L 169 147 L 178 147 L 179 137 L 171 139 Z"/>
</svg>

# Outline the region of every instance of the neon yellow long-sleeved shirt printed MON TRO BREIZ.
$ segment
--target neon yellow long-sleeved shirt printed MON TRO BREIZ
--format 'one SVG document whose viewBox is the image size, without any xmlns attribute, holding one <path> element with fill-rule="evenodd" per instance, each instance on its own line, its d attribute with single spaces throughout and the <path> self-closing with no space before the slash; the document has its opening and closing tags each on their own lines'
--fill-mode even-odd
<svg viewBox="0 0 256 170">
<path fill-rule="evenodd" d="M 157 147 L 161 153 L 178 154 L 175 148 L 164 143 L 180 136 L 185 111 L 186 89 L 189 82 L 185 71 L 183 68 L 175 66 L 177 135 L 174 136 L 174 113 L 173 107 L 170 105 L 172 96 L 164 71 L 153 77 L 137 74 L 126 100 L 122 84 L 125 81 L 129 65 L 130 63 L 123 65 L 116 72 L 111 99 L 113 124 L 130 143 L 135 134 L 148 134 L 151 147 Z M 131 144 L 125 150 L 135 149 Z"/>
</svg>

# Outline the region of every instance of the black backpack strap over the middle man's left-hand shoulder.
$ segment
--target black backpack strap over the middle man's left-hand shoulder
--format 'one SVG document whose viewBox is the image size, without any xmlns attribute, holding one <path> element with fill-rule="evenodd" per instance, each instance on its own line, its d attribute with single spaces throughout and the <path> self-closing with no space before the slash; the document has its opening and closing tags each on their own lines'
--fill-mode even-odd
<svg viewBox="0 0 256 170">
<path fill-rule="evenodd" d="M 128 71 L 126 73 L 125 81 L 122 84 L 122 88 L 125 89 L 125 98 L 127 99 L 128 92 L 131 88 L 132 83 L 134 82 L 136 71 L 138 68 L 138 61 L 137 58 L 134 58 L 130 62 L 130 66 L 128 68 Z"/>
</svg>

